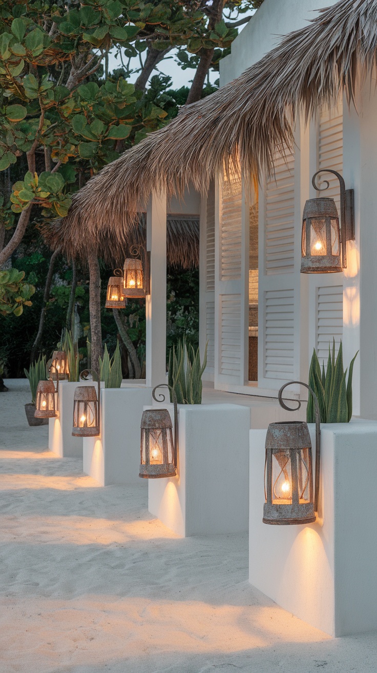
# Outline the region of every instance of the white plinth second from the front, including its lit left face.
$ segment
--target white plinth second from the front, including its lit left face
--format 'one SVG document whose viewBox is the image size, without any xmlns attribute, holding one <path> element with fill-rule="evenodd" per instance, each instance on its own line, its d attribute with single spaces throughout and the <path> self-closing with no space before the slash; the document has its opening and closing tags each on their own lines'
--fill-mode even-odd
<svg viewBox="0 0 377 673">
<path fill-rule="evenodd" d="M 249 429 L 246 406 L 179 405 L 177 476 L 148 480 L 149 511 L 183 537 L 247 530 Z"/>
</svg>

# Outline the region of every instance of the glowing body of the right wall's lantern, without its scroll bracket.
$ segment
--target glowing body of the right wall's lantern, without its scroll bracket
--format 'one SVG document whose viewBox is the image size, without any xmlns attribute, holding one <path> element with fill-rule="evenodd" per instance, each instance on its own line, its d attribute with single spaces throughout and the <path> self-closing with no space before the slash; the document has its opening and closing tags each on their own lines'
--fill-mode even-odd
<svg viewBox="0 0 377 673">
<path fill-rule="evenodd" d="M 302 215 L 301 273 L 336 273 L 342 269 L 335 201 L 308 199 Z"/>
</svg>

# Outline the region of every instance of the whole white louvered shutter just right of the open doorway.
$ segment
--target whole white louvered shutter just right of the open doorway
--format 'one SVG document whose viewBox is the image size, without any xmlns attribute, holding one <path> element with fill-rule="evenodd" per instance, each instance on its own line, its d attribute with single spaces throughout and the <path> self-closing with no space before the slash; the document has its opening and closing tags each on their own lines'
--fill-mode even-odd
<svg viewBox="0 0 377 673">
<path fill-rule="evenodd" d="M 278 390 L 299 367 L 295 157 L 278 155 L 259 201 L 258 386 Z"/>
</svg>

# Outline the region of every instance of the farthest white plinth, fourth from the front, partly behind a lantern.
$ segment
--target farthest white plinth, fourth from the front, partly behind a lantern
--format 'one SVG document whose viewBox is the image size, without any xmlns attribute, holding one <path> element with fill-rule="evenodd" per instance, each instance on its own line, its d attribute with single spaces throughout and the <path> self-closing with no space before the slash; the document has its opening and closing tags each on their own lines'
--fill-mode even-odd
<svg viewBox="0 0 377 673">
<path fill-rule="evenodd" d="M 77 386 L 89 384 L 88 381 L 59 381 L 58 417 L 48 419 L 48 448 L 63 458 L 83 457 L 83 438 L 72 435 L 73 396 Z"/>
</svg>

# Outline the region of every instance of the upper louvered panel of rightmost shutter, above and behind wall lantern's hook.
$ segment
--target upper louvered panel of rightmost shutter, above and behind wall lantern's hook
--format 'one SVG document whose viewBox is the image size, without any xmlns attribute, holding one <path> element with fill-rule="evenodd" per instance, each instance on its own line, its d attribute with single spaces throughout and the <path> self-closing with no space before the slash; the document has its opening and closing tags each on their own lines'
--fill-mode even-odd
<svg viewBox="0 0 377 673">
<path fill-rule="evenodd" d="M 318 170 L 331 168 L 343 174 L 343 106 L 341 102 L 337 108 L 323 110 L 319 118 L 319 143 L 318 143 Z M 329 188 L 325 192 L 319 192 L 319 196 L 330 197 L 335 200 L 340 215 L 339 181 L 336 176 L 323 174 L 319 176 L 319 182 L 329 182 Z"/>
</svg>

